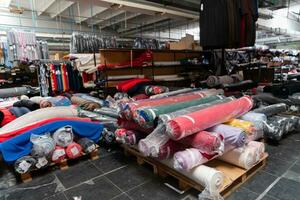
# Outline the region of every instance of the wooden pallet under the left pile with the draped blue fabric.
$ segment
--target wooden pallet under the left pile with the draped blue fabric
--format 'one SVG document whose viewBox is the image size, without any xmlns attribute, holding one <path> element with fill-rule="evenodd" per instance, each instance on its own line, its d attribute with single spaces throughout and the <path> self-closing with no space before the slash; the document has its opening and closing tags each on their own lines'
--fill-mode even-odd
<svg viewBox="0 0 300 200">
<path fill-rule="evenodd" d="M 89 153 L 89 154 L 82 153 L 81 156 L 76 158 L 76 159 L 80 159 L 84 156 L 88 156 L 91 160 L 97 160 L 99 158 L 99 146 L 97 145 L 96 149 L 93 152 Z M 69 168 L 68 161 L 70 161 L 70 160 L 74 160 L 74 159 L 67 158 L 67 159 L 62 160 L 59 163 L 51 162 L 50 165 L 47 166 L 47 168 L 58 166 L 60 168 L 60 170 L 66 170 L 66 169 Z M 42 169 L 44 170 L 45 168 L 42 168 Z M 22 182 L 27 183 L 27 182 L 32 181 L 32 173 L 37 172 L 39 170 L 41 170 L 41 169 L 34 169 L 30 172 L 27 172 L 27 173 L 24 173 L 24 174 L 19 174 Z"/>
</svg>

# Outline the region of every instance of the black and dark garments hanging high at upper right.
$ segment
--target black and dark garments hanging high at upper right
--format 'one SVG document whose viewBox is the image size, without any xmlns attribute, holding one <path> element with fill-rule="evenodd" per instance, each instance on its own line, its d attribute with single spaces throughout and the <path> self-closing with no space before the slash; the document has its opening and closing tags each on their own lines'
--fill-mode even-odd
<svg viewBox="0 0 300 200">
<path fill-rule="evenodd" d="M 257 0 L 201 0 L 200 44 L 210 49 L 253 46 L 257 19 Z"/>
</svg>

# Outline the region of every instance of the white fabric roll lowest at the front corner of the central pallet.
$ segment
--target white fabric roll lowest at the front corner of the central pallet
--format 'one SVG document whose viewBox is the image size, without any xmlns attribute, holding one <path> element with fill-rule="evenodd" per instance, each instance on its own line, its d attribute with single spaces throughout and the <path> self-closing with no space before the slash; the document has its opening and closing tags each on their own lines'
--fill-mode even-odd
<svg viewBox="0 0 300 200">
<path fill-rule="evenodd" d="M 163 160 L 161 162 L 173 168 L 173 159 Z M 214 168 L 199 165 L 188 172 L 180 171 L 180 173 L 205 187 L 211 194 L 219 193 L 222 189 L 224 182 L 223 173 Z"/>
</svg>

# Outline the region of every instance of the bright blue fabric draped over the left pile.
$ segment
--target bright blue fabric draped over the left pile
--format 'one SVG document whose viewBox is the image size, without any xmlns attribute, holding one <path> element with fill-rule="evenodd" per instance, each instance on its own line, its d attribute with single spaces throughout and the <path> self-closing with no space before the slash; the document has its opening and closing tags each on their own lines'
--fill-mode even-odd
<svg viewBox="0 0 300 200">
<path fill-rule="evenodd" d="M 3 160 L 8 164 L 12 164 L 15 160 L 29 155 L 32 149 L 32 143 L 30 142 L 31 134 L 43 135 L 49 132 L 53 133 L 57 129 L 67 125 L 72 126 L 75 135 L 89 138 L 96 143 L 99 141 L 103 131 L 103 125 L 99 123 L 73 120 L 51 122 L 1 143 L 0 151 Z"/>
</svg>

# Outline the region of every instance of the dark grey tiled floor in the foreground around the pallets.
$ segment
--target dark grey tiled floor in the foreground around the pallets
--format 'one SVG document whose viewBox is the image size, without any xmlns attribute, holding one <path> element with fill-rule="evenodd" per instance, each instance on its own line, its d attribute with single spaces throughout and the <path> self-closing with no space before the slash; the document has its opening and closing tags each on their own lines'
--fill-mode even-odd
<svg viewBox="0 0 300 200">
<path fill-rule="evenodd" d="M 300 133 L 289 135 L 278 146 L 267 145 L 267 166 L 229 200 L 299 200 Z M 1 164 L 3 165 L 3 164 Z M 100 159 L 73 162 L 68 170 L 53 169 L 19 183 L 14 173 L 0 166 L 0 200 L 193 200 L 197 191 L 178 194 L 152 174 L 151 168 L 138 166 L 122 151 L 101 148 Z"/>
</svg>

